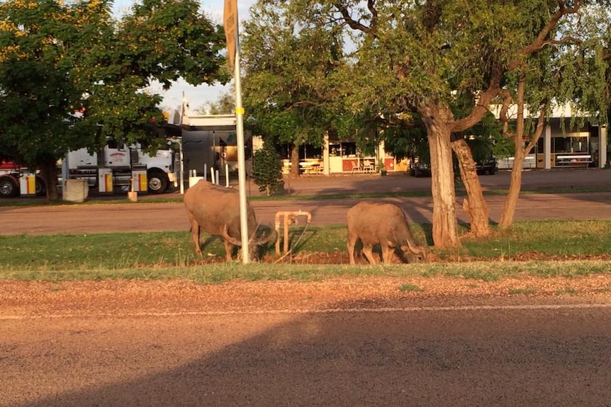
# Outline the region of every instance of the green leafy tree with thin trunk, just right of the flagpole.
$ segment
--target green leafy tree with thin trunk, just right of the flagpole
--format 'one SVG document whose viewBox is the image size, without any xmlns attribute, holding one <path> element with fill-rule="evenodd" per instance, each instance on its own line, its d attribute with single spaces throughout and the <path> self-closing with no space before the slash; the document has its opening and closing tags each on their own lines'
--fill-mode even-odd
<svg viewBox="0 0 611 407">
<path fill-rule="evenodd" d="M 264 137 L 291 145 L 298 176 L 298 148 L 320 146 L 332 121 L 327 103 L 337 96 L 330 83 L 342 38 L 321 21 L 298 20 L 288 2 L 261 0 L 250 13 L 242 41 L 245 106 Z"/>
</svg>

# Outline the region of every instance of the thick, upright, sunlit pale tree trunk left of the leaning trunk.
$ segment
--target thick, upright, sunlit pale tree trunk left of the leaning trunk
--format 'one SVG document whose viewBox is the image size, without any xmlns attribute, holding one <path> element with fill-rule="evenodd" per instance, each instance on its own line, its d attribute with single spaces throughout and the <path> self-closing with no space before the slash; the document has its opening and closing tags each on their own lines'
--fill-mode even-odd
<svg viewBox="0 0 611 407">
<path fill-rule="evenodd" d="M 456 195 L 450 129 L 452 112 L 435 104 L 419 109 L 427 127 L 431 153 L 431 190 L 433 195 L 433 243 L 439 248 L 460 247 L 456 222 Z"/>
</svg>

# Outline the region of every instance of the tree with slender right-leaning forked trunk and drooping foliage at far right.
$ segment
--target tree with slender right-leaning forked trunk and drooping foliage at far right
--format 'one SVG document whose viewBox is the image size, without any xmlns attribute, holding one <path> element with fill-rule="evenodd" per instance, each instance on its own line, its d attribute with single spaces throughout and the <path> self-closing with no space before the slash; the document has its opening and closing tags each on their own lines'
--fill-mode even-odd
<svg viewBox="0 0 611 407">
<path fill-rule="evenodd" d="M 554 18 L 560 13 L 561 8 Z M 513 140 L 515 154 L 500 228 L 512 226 L 522 185 L 522 164 L 542 137 L 553 108 L 570 106 L 570 125 L 582 123 L 585 116 L 600 125 L 607 123 L 611 98 L 606 91 L 605 70 L 611 55 L 605 47 L 609 49 L 610 21 L 605 4 L 583 3 L 573 16 L 556 23 L 555 34 L 538 42 L 537 50 L 510 65 L 512 70 L 505 75 L 500 94 L 499 115 L 505 135 Z M 535 25 L 534 29 L 539 27 Z M 510 110 L 515 111 L 515 117 L 510 117 Z M 515 126 L 510 126 L 510 121 Z"/>
</svg>

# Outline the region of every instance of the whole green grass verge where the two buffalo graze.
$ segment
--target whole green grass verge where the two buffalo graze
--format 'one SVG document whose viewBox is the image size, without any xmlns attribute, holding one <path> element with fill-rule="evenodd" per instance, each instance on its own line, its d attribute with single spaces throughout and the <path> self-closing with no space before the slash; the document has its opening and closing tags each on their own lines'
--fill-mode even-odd
<svg viewBox="0 0 611 407">
<path fill-rule="evenodd" d="M 420 241 L 430 243 L 430 224 L 414 224 Z M 205 236 L 204 236 L 205 237 Z M 199 264 L 187 231 L 78 234 L 54 236 L 0 236 L 0 280 L 102 280 L 185 278 L 202 283 L 229 280 L 322 280 L 359 275 L 449 276 L 473 281 L 503 277 L 578 277 L 611 272 L 611 263 L 580 260 L 580 256 L 611 254 L 611 221 L 516 222 L 512 231 L 495 231 L 492 239 L 465 240 L 459 251 L 430 252 L 441 261 L 393 265 L 308 265 L 300 261 L 314 252 L 346 254 L 345 227 L 291 228 L 292 264 L 229 263 Z M 282 245 L 281 245 L 282 246 Z M 559 256 L 556 261 L 508 261 L 520 253 Z M 224 257 L 220 239 L 203 246 L 205 258 Z M 269 256 L 274 247 L 267 248 Z M 464 260 L 468 261 L 464 261 Z M 565 260 L 566 259 L 566 260 Z M 400 290 L 411 290 L 405 285 Z M 565 292 L 565 294 L 567 294 Z"/>
</svg>

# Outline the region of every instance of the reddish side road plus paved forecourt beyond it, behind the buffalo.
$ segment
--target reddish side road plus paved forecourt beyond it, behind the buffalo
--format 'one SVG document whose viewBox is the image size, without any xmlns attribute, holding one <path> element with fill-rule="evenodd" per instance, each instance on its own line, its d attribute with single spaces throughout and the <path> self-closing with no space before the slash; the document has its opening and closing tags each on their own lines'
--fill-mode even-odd
<svg viewBox="0 0 611 407">
<path fill-rule="evenodd" d="M 541 190 L 547 193 L 522 194 L 515 212 L 515 220 L 532 219 L 611 219 L 611 192 L 549 193 L 560 188 L 583 190 L 587 188 L 611 188 L 609 170 L 529 171 L 523 174 L 523 189 Z M 485 190 L 507 188 L 509 173 L 482 176 Z M 329 195 L 355 192 L 397 192 L 404 190 L 430 190 L 430 178 L 408 176 L 337 176 L 302 177 L 287 180 L 286 189 L 291 200 L 253 200 L 259 222 L 273 225 L 276 212 L 306 211 L 312 214 L 313 226 L 345 224 L 346 211 L 355 205 L 356 199 L 299 200 L 299 196 Z M 251 196 L 256 188 L 249 185 Z M 179 194 L 164 195 L 179 198 Z M 105 205 L 92 198 L 89 205 L 57 206 L 0 206 L 0 234 L 84 234 L 129 231 L 187 231 L 189 223 L 181 203 L 152 203 L 152 198 L 141 197 L 142 205 L 134 203 Z M 430 222 L 431 197 L 379 198 L 399 205 L 412 222 Z M 462 198 L 456 201 L 459 222 L 469 218 L 462 210 Z M 497 222 L 505 200 L 504 195 L 488 195 L 488 210 L 493 222 Z"/>
</svg>

